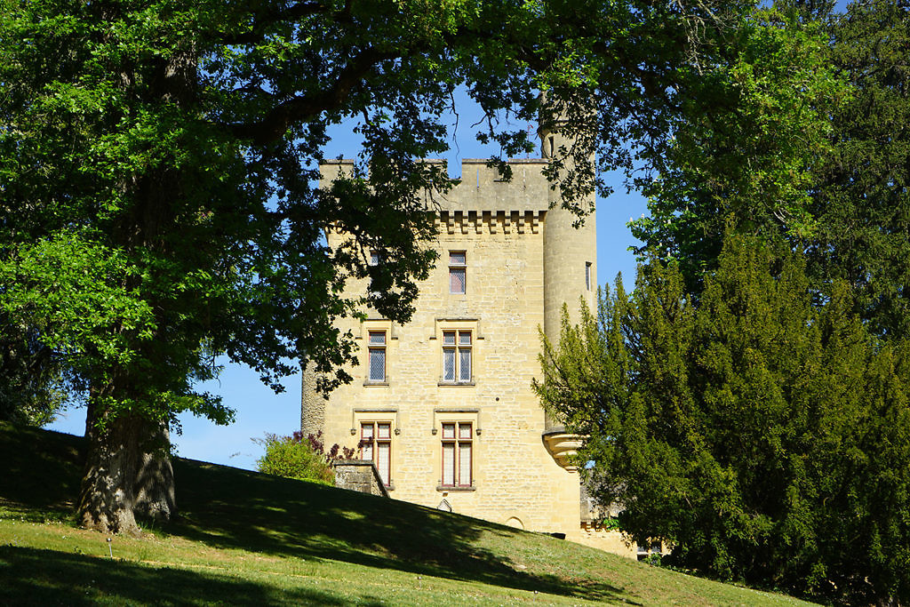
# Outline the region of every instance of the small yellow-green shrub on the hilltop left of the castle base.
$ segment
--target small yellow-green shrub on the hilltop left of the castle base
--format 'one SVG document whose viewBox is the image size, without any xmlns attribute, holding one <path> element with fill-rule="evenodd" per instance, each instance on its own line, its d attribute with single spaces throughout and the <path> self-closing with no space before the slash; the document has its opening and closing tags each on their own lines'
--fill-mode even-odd
<svg viewBox="0 0 910 607">
<path fill-rule="evenodd" d="M 326 453 L 321 439 L 321 431 L 309 434 L 306 439 L 302 432 L 294 432 L 290 436 L 266 434 L 265 439 L 254 439 L 266 448 L 266 454 L 256 460 L 257 470 L 288 479 L 333 485 L 335 473 L 331 462 L 352 459 L 354 450 L 335 444 Z"/>
</svg>

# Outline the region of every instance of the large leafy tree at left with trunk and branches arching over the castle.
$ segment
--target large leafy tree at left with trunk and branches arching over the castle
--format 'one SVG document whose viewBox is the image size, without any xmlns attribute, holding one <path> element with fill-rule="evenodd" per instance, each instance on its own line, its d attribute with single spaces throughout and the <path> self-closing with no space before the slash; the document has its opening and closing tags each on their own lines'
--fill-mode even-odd
<svg viewBox="0 0 910 607">
<path fill-rule="evenodd" d="M 798 79 L 789 98 L 805 103 L 785 104 L 784 120 L 814 132 L 827 79 L 814 46 L 794 51 L 811 33 L 746 2 L 2 6 L 0 313 L 85 395 L 79 518 L 111 531 L 176 507 L 178 412 L 231 420 L 195 389 L 215 355 L 275 389 L 303 361 L 331 389 L 354 352 L 333 319 L 367 300 L 409 317 L 433 263 L 424 194 L 450 186 L 421 160 L 448 146 L 455 87 L 480 104 L 478 137 L 499 144 L 501 167 L 531 146 L 525 122 L 561 116 L 574 144 L 550 176 L 583 217 L 594 149 L 602 168 L 660 169 L 682 116 L 748 118 L 775 79 Z M 317 187 L 327 127 L 350 118 L 357 168 Z M 750 157 L 763 184 L 804 154 L 791 131 L 765 130 Z M 329 226 L 348 245 L 326 248 Z M 369 266 L 370 249 L 383 264 Z M 369 278 L 367 300 L 342 295 L 349 277 Z"/>
</svg>

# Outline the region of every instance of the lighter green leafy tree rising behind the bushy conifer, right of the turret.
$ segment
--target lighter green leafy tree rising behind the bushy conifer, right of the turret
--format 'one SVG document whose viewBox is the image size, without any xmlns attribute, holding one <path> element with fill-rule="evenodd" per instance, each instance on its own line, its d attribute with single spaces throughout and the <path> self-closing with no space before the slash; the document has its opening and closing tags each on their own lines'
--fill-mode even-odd
<svg viewBox="0 0 910 607">
<path fill-rule="evenodd" d="M 637 253 L 677 259 L 691 292 L 715 267 L 727 229 L 791 240 L 815 233 L 810 168 L 831 147 L 830 115 L 849 95 L 821 25 L 777 3 L 751 27 L 733 45 L 739 59 L 723 84 L 712 82 L 717 73 L 706 78 L 713 111 L 684 106 L 660 176 L 641 184 L 650 214 L 631 224 L 644 243 Z"/>
</svg>

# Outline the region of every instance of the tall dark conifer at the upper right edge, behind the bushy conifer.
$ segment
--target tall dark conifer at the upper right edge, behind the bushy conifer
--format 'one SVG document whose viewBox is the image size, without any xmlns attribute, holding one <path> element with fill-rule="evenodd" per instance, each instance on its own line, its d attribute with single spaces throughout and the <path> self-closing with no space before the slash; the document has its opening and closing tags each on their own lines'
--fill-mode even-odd
<svg viewBox="0 0 910 607">
<path fill-rule="evenodd" d="M 910 331 L 910 6 L 854 3 L 834 19 L 832 62 L 853 87 L 814 170 L 816 282 L 844 279 L 881 335 Z"/>
</svg>

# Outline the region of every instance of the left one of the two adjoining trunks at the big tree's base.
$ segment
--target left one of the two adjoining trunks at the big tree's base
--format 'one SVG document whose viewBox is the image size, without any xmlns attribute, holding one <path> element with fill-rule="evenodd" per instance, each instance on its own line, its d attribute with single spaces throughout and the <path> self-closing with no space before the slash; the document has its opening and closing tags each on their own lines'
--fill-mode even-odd
<svg viewBox="0 0 910 607">
<path fill-rule="evenodd" d="M 103 533 L 138 535 L 133 509 L 136 503 L 136 464 L 140 458 L 140 420 L 119 415 L 98 428 L 103 415 L 91 402 L 86 416 L 86 470 L 82 477 L 76 518 L 83 527 Z"/>
</svg>

